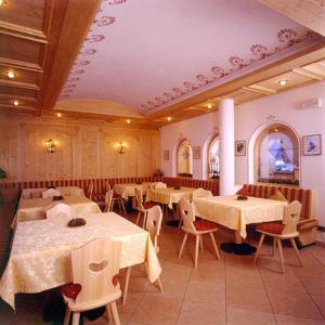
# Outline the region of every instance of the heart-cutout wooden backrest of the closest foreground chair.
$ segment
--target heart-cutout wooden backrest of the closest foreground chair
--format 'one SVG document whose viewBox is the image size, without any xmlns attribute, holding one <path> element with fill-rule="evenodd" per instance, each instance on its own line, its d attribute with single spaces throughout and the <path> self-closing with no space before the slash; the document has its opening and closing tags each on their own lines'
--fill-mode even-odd
<svg viewBox="0 0 325 325">
<path fill-rule="evenodd" d="M 120 291 L 114 275 L 119 272 L 121 243 L 96 238 L 72 251 L 74 283 L 81 285 L 76 303 L 105 299 Z"/>
</svg>

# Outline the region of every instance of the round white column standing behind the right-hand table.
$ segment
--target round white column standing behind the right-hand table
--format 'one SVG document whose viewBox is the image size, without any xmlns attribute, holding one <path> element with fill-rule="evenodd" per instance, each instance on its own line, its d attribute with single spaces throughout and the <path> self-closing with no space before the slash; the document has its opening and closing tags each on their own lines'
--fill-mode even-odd
<svg viewBox="0 0 325 325">
<path fill-rule="evenodd" d="M 234 100 L 225 99 L 219 104 L 220 130 L 220 195 L 235 193 L 235 122 Z"/>
</svg>

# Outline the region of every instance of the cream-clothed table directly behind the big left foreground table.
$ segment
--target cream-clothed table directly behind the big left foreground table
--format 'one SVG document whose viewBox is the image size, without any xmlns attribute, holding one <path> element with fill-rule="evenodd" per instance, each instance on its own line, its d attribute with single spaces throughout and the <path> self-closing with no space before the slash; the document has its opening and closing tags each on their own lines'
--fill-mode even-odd
<svg viewBox="0 0 325 325">
<path fill-rule="evenodd" d="M 12 221 L 12 229 L 15 229 L 18 222 L 46 219 L 47 210 L 58 203 L 70 206 L 75 217 L 80 217 L 80 214 L 86 212 L 101 212 L 95 202 L 79 195 L 63 196 L 60 200 L 55 200 L 52 197 L 21 199 Z"/>
</svg>

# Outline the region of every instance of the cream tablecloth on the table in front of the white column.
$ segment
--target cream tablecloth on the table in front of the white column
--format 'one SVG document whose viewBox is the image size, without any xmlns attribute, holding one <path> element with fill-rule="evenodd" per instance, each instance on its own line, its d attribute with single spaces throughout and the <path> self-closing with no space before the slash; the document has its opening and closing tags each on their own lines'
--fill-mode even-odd
<svg viewBox="0 0 325 325">
<path fill-rule="evenodd" d="M 283 219 L 286 202 L 259 197 L 237 200 L 236 195 L 202 197 L 194 199 L 195 216 L 213 221 L 246 237 L 246 224 Z"/>
</svg>

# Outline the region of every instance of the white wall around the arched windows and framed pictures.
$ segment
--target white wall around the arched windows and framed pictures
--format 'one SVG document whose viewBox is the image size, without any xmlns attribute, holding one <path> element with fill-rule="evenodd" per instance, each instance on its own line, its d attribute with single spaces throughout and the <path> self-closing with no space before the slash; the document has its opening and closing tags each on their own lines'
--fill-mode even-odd
<svg viewBox="0 0 325 325">
<path fill-rule="evenodd" d="M 297 104 L 313 98 L 322 99 L 321 108 L 297 109 Z M 287 91 L 256 100 L 235 108 L 235 140 L 248 142 L 255 130 L 270 123 L 270 119 L 283 121 L 294 128 L 298 135 L 322 134 L 323 154 L 320 156 L 301 156 L 301 186 L 314 190 L 313 202 L 320 223 L 325 225 L 325 82 L 318 82 L 296 90 Z M 218 113 L 206 114 L 196 118 L 172 123 L 161 128 L 161 151 L 172 150 L 180 139 L 186 139 L 192 146 L 207 146 L 208 140 L 218 131 Z M 193 178 L 206 177 L 206 153 L 194 160 Z M 170 155 L 171 157 L 172 155 Z M 162 160 L 161 169 L 166 176 L 172 174 L 172 160 Z M 248 155 L 235 158 L 236 183 L 248 182 Z"/>
</svg>

